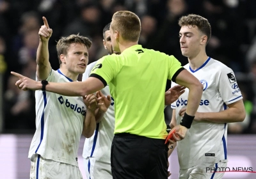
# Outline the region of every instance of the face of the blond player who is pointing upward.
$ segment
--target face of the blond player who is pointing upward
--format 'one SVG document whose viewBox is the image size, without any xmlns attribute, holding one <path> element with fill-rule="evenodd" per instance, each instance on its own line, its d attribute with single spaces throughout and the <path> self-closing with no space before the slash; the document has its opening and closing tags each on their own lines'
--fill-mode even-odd
<svg viewBox="0 0 256 179">
<path fill-rule="evenodd" d="M 88 49 L 80 43 L 71 43 L 62 63 L 70 74 L 83 74 L 88 64 Z"/>
</svg>

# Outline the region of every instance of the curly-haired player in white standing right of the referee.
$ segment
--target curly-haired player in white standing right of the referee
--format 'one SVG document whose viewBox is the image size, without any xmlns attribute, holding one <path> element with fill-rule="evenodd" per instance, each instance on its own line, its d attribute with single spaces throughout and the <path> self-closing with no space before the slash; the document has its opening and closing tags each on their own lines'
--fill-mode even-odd
<svg viewBox="0 0 256 179">
<path fill-rule="evenodd" d="M 227 123 L 244 120 L 243 97 L 232 69 L 205 52 L 211 38 L 208 20 L 190 14 L 180 18 L 179 26 L 181 52 L 189 62 L 184 68 L 204 85 L 191 128 L 185 139 L 177 142 L 179 178 L 222 178 L 224 173 L 211 172 L 227 166 Z M 188 110 L 189 89 L 185 91 L 172 104 L 171 128 L 180 123 Z M 206 172 L 207 167 L 211 171 Z"/>
</svg>

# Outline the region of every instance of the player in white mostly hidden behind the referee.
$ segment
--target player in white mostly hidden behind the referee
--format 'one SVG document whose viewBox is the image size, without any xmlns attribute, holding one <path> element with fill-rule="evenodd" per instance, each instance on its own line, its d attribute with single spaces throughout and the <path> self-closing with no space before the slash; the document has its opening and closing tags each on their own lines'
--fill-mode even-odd
<svg viewBox="0 0 256 179">
<path fill-rule="evenodd" d="M 110 23 L 103 29 L 103 45 L 109 54 L 113 54 L 109 26 Z M 97 61 L 94 61 L 86 67 L 82 81 L 88 79 L 96 63 Z M 97 116 L 100 117 L 97 118 L 95 132 L 92 137 L 85 139 L 83 148 L 84 169 L 86 178 L 111 179 L 113 177 L 110 166 L 110 151 L 115 128 L 114 99 L 109 96 L 109 86 L 100 91 L 108 97 L 110 105 L 107 111 L 97 111 Z"/>
</svg>

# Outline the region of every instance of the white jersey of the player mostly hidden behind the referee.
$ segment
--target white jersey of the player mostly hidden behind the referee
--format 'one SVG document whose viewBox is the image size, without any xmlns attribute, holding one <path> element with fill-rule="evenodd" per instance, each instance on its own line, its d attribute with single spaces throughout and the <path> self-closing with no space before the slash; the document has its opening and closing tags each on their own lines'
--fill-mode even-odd
<svg viewBox="0 0 256 179">
<path fill-rule="evenodd" d="M 97 61 L 90 63 L 86 67 L 82 81 L 86 80 Z M 101 89 L 103 95 L 110 95 L 109 86 Z M 108 162 L 110 164 L 111 143 L 114 137 L 115 112 L 114 99 L 111 97 L 111 105 L 104 114 L 102 121 L 97 123 L 97 127 L 92 137 L 86 138 L 84 142 L 83 157 L 95 157 L 96 160 Z"/>
</svg>

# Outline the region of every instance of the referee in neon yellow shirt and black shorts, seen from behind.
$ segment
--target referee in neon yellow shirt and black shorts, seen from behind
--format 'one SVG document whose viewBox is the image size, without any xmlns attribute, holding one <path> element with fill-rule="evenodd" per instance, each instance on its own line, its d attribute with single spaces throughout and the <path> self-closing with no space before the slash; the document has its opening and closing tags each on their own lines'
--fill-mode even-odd
<svg viewBox="0 0 256 179">
<path fill-rule="evenodd" d="M 115 137 L 111 146 L 113 178 L 167 178 L 168 145 L 164 122 L 164 90 L 170 79 L 189 88 L 188 108 L 176 130 L 183 139 L 200 104 L 203 86 L 174 56 L 138 45 L 141 24 L 129 11 L 113 15 L 110 34 L 112 54 L 101 58 L 86 81 L 70 84 L 49 82 L 47 91 L 84 96 L 109 84 L 115 99 Z M 12 72 L 23 90 L 42 89 L 41 82 Z M 163 94 L 163 95 L 161 95 Z"/>
</svg>

